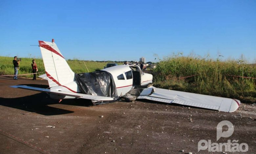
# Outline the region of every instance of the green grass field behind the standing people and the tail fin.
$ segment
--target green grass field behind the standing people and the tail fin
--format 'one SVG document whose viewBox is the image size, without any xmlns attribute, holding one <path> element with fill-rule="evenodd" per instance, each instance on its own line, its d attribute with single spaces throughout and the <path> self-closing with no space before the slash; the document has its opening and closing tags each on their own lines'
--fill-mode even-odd
<svg viewBox="0 0 256 154">
<path fill-rule="evenodd" d="M 32 73 L 32 59 L 33 58 L 21 58 L 22 61 L 20 62 L 20 69 L 18 74 L 29 74 Z M 12 75 L 14 73 L 13 70 L 13 57 L 3 57 L 0 56 L 0 74 L 1 75 Z M 38 67 L 38 72 L 44 71 L 44 64 L 42 59 L 35 59 L 36 64 Z M 95 61 L 81 61 L 81 60 L 68 60 L 67 63 L 69 64 L 70 68 L 75 73 L 84 73 L 84 72 L 93 72 L 95 70 L 103 69 L 109 62 L 95 62 Z M 117 63 L 121 65 L 122 63 Z M 85 67 L 87 66 L 87 68 Z M 43 72 L 45 73 L 45 72 Z M 32 77 L 33 75 L 25 75 L 26 77 Z"/>
</svg>

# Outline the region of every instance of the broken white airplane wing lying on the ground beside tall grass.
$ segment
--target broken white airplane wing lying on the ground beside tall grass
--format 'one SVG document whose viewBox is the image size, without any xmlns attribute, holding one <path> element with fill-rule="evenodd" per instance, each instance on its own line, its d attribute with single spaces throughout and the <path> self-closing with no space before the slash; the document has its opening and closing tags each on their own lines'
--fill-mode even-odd
<svg viewBox="0 0 256 154">
<path fill-rule="evenodd" d="M 167 90 L 156 87 L 143 89 L 137 99 L 148 99 L 164 103 L 176 103 L 186 106 L 219 110 L 223 112 L 234 112 L 241 104 L 240 101 L 236 99 Z"/>
</svg>

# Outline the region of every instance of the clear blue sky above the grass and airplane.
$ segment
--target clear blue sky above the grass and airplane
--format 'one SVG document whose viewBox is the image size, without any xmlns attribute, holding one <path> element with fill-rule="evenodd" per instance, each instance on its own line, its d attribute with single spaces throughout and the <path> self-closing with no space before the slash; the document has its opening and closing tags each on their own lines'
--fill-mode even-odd
<svg viewBox="0 0 256 154">
<path fill-rule="evenodd" d="M 0 1 L 0 55 L 41 57 L 38 40 L 66 59 L 155 61 L 173 53 L 256 60 L 255 0 Z"/>
</svg>

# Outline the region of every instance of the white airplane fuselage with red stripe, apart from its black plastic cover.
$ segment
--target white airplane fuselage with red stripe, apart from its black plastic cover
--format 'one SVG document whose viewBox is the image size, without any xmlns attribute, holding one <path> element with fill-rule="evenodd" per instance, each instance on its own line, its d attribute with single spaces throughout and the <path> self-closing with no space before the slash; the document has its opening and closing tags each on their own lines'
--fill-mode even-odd
<svg viewBox="0 0 256 154">
<path fill-rule="evenodd" d="M 117 95 L 119 97 L 128 93 L 135 87 L 147 87 L 152 84 L 152 74 L 144 73 L 137 65 L 118 65 L 114 67 L 108 67 L 102 69 L 102 71 L 109 72 L 114 79 L 117 88 Z M 51 87 L 51 91 L 67 91 L 80 93 L 80 89 L 77 86 L 76 81 L 70 82 L 65 85 Z M 50 94 L 52 99 L 62 100 L 74 98 L 71 96 L 63 96 Z"/>
</svg>

